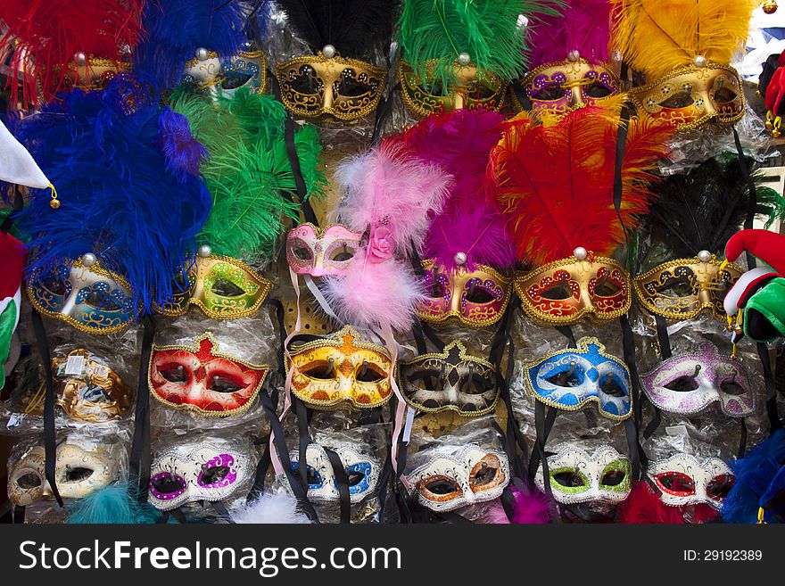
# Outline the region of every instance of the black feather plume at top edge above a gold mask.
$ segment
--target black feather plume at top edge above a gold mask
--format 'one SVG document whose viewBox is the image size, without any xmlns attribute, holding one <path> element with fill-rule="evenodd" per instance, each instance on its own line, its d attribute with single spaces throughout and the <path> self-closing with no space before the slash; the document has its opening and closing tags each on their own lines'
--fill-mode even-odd
<svg viewBox="0 0 785 586">
<path fill-rule="evenodd" d="M 333 45 L 343 57 L 371 61 L 386 54 L 395 0 L 278 0 L 293 32 L 316 53 Z"/>
</svg>

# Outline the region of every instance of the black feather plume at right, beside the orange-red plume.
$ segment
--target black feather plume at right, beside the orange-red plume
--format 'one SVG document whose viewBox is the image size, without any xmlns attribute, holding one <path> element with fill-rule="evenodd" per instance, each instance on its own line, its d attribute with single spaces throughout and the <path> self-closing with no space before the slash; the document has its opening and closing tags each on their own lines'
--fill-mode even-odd
<svg viewBox="0 0 785 586">
<path fill-rule="evenodd" d="M 753 161 L 746 163 L 752 169 Z M 758 214 L 781 214 L 781 198 L 760 187 L 759 175 L 753 173 L 753 180 Z M 688 173 L 667 177 L 656 191 L 647 221 L 653 238 L 667 244 L 674 258 L 693 257 L 702 250 L 722 252 L 747 219 L 749 189 L 738 158 L 704 161 Z"/>
</svg>

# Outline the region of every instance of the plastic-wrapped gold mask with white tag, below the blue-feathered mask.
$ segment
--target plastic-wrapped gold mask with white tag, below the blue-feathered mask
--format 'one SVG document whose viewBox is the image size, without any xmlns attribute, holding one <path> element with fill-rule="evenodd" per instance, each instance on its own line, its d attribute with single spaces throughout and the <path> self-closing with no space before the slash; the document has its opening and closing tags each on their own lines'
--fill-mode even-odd
<svg viewBox="0 0 785 586">
<path fill-rule="evenodd" d="M 71 419 L 111 421 L 131 406 L 131 391 L 120 376 L 82 348 L 70 351 L 67 357 L 53 358 L 52 372 L 60 391 L 57 404 Z"/>
</svg>

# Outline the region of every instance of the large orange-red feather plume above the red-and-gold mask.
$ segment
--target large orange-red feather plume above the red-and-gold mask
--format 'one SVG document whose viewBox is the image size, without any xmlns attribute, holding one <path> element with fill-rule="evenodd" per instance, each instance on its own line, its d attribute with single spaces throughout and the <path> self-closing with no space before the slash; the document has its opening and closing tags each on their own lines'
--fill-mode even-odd
<svg viewBox="0 0 785 586">
<path fill-rule="evenodd" d="M 518 258 L 533 266 L 583 246 L 609 255 L 624 242 L 613 203 L 616 134 L 612 111 L 589 106 L 558 121 L 511 120 L 491 155 L 491 197 L 508 214 Z M 649 120 L 629 123 L 622 161 L 621 217 L 638 226 L 653 194 L 650 174 L 673 130 Z"/>
</svg>

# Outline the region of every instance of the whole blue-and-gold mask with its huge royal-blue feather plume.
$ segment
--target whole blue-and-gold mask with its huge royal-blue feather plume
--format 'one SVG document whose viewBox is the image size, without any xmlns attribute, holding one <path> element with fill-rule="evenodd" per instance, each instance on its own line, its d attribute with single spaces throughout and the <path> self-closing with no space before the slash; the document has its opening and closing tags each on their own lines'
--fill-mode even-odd
<svg viewBox="0 0 785 586">
<path fill-rule="evenodd" d="M 116 332 L 169 300 L 211 210 L 206 150 L 188 121 L 120 74 L 74 90 L 12 131 L 57 184 L 16 216 L 31 251 L 33 306 L 91 334 Z"/>
</svg>

